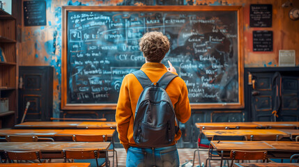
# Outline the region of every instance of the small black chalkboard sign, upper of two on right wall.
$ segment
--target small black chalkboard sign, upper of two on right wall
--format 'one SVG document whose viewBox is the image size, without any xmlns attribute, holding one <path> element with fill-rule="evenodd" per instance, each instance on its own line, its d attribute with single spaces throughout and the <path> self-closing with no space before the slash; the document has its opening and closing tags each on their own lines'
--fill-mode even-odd
<svg viewBox="0 0 299 167">
<path fill-rule="evenodd" d="M 250 27 L 271 27 L 272 5 L 251 4 L 250 5 Z"/>
</svg>

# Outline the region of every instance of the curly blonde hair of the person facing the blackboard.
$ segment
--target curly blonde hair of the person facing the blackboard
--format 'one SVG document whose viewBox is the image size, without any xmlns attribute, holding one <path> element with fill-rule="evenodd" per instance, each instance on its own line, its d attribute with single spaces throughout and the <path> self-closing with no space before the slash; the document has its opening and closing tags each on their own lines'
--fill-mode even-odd
<svg viewBox="0 0 299 167">
<path fill-rule="evenodd" d="M 139 49 L 144 53 L 146 60 L 153 63 L 160 63 L 170 44 L 167 36 L 158 31 L 145 33 L 139 42 Z"/>
</svg>

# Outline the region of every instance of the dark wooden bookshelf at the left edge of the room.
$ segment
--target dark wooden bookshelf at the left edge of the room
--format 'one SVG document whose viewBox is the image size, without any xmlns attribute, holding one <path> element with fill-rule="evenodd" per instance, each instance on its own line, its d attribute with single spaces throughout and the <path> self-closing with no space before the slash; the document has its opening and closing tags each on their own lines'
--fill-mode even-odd
<svg viewBox="0 0 299 167">
<path fill-rule="evenodd" d="M 0 9 L 0 56 L 4 57 L 0 59 L 0 97 L 1 100 L 8 100 L 8 111 L 0 111 L 0 127 L 2 128 L 15 125 L 17 111 L 16 45 L 16 19 Z M 3 108 L 0 107 L 0 110 Z"/>
</svg>

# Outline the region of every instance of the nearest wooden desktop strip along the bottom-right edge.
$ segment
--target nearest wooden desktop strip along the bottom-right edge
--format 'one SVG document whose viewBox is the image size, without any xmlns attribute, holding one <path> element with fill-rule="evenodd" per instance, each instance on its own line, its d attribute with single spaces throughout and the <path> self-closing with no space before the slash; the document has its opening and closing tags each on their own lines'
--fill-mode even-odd
<svg viewBox="0 0 299 167">
<path fill-rule="evenodd" d="M 233 167 L 298 167 L 297 163 L 233 163 Z"/>
</svg>

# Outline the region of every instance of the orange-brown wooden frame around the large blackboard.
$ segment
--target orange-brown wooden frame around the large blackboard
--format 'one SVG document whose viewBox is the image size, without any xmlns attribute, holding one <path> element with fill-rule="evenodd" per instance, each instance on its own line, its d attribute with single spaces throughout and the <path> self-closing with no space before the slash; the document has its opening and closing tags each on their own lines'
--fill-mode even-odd
<svg viewBox="0 0 299 167">
<path fill-rule="evenodd" d="M 243 109 L 243 8 L 242 6 L 63 6 L 62 8 L 62 53 L 61 53 L 61 109 L 63 110 L 103 110 L 116 109 L 115 104 L 70 104 L 67 94 L 68 65 L 68 12 L 201 12 L 201 11 L 231 11 L 236 13 L 238 24 L 238 102 L 234 103 L 191 103 L 192 109 Z"/>
</svg>

